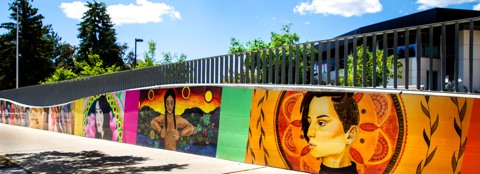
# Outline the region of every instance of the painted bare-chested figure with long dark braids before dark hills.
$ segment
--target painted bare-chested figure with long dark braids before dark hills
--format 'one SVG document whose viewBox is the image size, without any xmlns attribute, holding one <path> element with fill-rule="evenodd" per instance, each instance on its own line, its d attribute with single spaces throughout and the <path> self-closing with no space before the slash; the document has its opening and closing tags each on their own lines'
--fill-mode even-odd
<svg viewBox="0 0 480 174">
<path fill-rule="evenodd" d="M 180 115 L 175 115 L 176 98 L 173 89 L 168 89 L 165 92 L 163 101 L 165 114 L 155 117 L 150 124 L 163 138 L 164 149 L 177 151 L 177 140 L 182 136 L 191 136 L 194 128 Z M 182 130 L 179 131 L 179 128 Z"/>
</svg>

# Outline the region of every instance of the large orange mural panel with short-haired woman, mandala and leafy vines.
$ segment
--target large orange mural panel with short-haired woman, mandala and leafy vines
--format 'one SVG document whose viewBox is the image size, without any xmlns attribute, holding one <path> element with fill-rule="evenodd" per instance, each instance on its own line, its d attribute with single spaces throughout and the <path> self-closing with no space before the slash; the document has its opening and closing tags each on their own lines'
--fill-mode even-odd
<svg viewBox="0 0 480 174">
<path fill-rule="evenodd" d="M 245 162 L 320 174 L 456 174 L 473 101 L 254 90 Z"/>
</svg>

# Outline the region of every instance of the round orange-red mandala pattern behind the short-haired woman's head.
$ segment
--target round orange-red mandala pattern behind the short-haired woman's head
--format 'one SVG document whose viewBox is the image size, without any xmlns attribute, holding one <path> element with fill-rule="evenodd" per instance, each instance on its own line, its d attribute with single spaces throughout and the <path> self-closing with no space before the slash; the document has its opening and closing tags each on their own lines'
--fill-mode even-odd
<svg viewBox="0 0 480 174">
<path fill-rule="evenodd" d="M 318 173 L 321 159 L 310 155 L 301 130 L 300 103 L 306 92 L 282 91 L 275 112 L 277 149 L 290 170 Z M 407 119 L 400 95 L 356 93 L 360 136 L 350 146 L 359 174 L 392 174 L 405 149 Z"/>
</svg>

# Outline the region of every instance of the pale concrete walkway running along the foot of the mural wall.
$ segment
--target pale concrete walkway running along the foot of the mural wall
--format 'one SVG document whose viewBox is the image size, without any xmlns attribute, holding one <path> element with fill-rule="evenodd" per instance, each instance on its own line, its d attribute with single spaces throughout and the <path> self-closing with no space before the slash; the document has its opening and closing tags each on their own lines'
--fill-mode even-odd
<svg viewBox="0 0 480 174">
<path fill-rule="evenodd" d="M 34 174 L 306 174 L 8 124 L 0 155 Z"/>
</svg>

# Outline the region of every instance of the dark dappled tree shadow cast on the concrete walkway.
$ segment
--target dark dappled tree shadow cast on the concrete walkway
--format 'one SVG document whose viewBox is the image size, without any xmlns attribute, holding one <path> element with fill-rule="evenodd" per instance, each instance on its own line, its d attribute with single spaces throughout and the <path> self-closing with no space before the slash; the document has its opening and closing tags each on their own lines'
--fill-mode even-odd
<svg viewBox="0 0 480 174">
<path fill-rule="evenodd" d="M 81 152 L 48 151 L 40 153 L 17 153 L 7 155 L 12 161 L 36 173 L 49 174 L 136 174 L 141 172 L 169 172 L 172 169 L 186 169 L 189 164 L 167 164 L 159 166 L 134 167 L 149 160 L 134 156 L 109 156 L 98 150 Z M 22 165 L 23 162 L 27 165 Z"/>
</svg>

